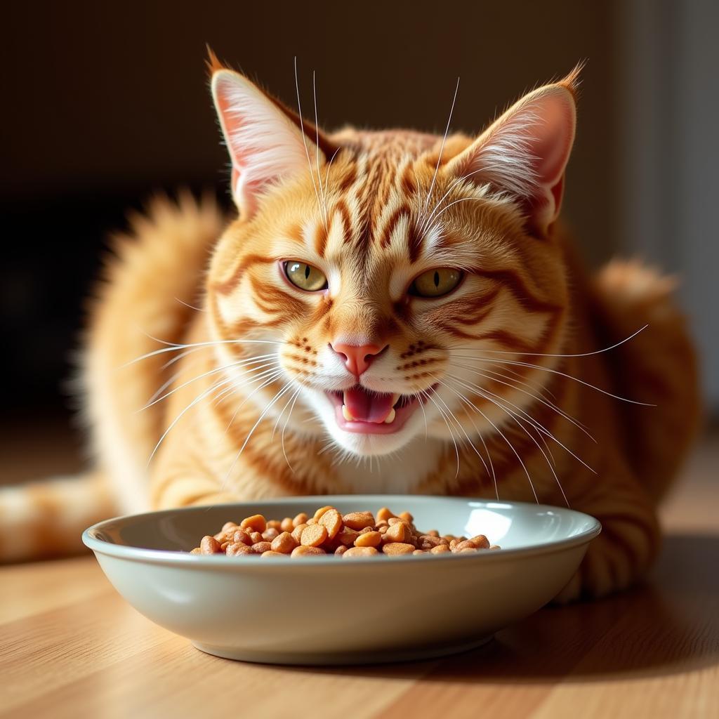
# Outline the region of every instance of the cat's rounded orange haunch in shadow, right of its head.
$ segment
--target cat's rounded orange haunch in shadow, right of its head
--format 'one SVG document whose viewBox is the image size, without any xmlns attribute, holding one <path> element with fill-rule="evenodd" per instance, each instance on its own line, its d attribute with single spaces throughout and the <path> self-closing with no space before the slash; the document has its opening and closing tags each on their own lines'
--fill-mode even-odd
<svg viewBox="0 0 719 719">
<path fill-rule="evenodd" d="M 659 501 L 695 438 L 700 390 L 695 346 L 674 300 L 675 281 L 637 260 L 613 260 L 595 278 L 607 345 L 620 393 L 656 406 L 623 406 L 627 456 Z"/>
</svg>

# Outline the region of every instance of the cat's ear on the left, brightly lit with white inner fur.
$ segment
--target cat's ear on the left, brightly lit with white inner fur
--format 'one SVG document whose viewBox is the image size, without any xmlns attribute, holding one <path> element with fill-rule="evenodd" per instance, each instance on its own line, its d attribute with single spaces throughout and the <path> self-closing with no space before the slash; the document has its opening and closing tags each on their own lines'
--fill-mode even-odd
<svg viewBox="0 0 719 719">
<path fill-rule="evenodd" d="M 211 64 L 211 71 L 212 99 L 232 160 L 232 196 L 247 219 L 267 188 L 310 172 L 318 161 L 324 163 L 324 153 L 283 106 L 243 75 L 219 63 Z"/>
</svg>

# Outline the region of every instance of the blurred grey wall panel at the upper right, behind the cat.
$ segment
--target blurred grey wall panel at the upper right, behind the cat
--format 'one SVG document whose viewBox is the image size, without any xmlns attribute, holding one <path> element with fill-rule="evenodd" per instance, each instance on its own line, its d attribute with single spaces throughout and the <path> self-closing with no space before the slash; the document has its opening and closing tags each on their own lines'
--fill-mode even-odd
<svg viewBox="0 0 719 719">
<path fill-rule="evenodd" d="M 619 247 L 677 275 L 707 411 L 719 413 L 719 3 L 626 0 L 615 9 Z"/>
</svg>

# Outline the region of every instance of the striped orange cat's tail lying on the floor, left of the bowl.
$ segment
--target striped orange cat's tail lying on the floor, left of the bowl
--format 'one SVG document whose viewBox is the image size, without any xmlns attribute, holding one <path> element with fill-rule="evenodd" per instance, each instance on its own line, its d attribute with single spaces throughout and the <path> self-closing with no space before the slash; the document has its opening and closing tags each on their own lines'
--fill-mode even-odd
<svg viewBox="0 0 719 719">
<path fill-rule="evenodd" d="M 83 530 L 115 514 L 99 472 L 0 487 L 0 564 L 77 554 Z"/>
</svg>

